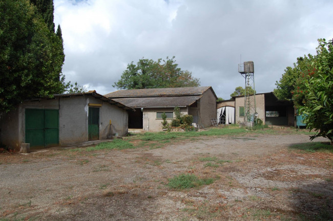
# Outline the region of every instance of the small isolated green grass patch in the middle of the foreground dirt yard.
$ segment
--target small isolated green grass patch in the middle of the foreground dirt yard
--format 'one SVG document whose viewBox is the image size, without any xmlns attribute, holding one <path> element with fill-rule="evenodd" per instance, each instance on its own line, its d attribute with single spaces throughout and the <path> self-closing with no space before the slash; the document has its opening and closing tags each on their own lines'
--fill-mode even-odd
<svg viewBox="0 0 333 221">
<path fill-rule="evenodd" d="M 209 185 L 214 182 L 213 179 L 199 179 L 194 174 L 180 174 L 169 179 L 168 186 L 172 189 L 189 189 L 193 187 L 199 187 L 202 185 Z"/>
</svg>

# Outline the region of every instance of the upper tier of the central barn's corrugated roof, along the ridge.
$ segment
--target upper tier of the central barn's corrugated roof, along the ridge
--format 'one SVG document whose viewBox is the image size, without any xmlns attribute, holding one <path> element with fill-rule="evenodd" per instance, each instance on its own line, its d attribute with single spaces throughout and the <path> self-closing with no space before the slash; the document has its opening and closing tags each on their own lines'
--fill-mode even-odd
<svg viewBox="0 0 333 221">
<path fill-rule="evenodd" d="M 109 98 L 157 97 L 157 96 L 177 96 L 177 95 L 191 96 L 191 95 L 202 95 L 205 91 L 211 88 L 212 88 L 211 86 L 197 86 L 197 87 L 170 87 L 170 88 L 161 88 L 161 89 L 119 90 L 111 92 L 104 96 Z M 213 89 L 212 92 L 215 95 Z"/>
</svg>

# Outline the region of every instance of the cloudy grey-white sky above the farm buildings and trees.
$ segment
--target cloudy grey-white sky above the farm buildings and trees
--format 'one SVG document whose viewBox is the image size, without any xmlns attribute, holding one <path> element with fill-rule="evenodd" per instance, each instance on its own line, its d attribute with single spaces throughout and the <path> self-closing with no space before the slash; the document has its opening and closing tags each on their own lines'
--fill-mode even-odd
<svg viewBox="0 0 333 221">
<path fill-rule="evenodd" d="M 175 56 L 201 86 L 230 99 L 254 62 L 257 93 L 272 92 L 297 57 L 333 38 L 330 0 L 53 0 L 66 81 L 108 94 L 127 65 Z"/>
</svg>

